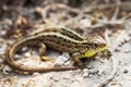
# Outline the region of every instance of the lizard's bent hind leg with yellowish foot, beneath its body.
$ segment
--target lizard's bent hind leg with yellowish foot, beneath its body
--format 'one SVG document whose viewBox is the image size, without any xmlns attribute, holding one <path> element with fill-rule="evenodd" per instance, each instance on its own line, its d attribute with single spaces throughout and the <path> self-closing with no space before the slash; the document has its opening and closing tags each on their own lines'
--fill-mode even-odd
<svg viewBox="0 0 131 87">
<path fill-rule="evenodd" d="M 46 45 L 44 42 L 39 42 L 39 47 L 40 47 L 40 49 L 39 49 L 39 58 L 40 58 L 41 61 L 51 61 L 51 62 L 55 61 L 53 59 L 45 55 L 47 48 L 46 48 Z"/>
</svg>

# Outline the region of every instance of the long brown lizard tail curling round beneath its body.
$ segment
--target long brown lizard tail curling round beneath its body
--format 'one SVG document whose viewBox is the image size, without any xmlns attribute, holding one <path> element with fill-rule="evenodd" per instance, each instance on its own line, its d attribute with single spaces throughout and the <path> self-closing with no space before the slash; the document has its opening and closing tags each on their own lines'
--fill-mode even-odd
<svg viewBox="0 0 131 87">
<path fill-rule="evenodd" d="M 32 37 L 32 38 L 22 39 L 21 41 L 17 41 L 16 44 L 14 44 L 9 50 L 7 50 L 5 63 L 8 63 L 16 72 L 23 73 L 23 74 L 31 74 L 34 72 L 41 73 L 41 72 L 51 72 L 51 71 L 58 72 L 58 71 L 78 70 L 78 67 L 27 67 L 25 65 L 16 63 L 14 60 L 15 52 L 24 45 L 27 45 L 28 42 L 34 40 L 36 42 L 35 37 Z"/>
</svg>

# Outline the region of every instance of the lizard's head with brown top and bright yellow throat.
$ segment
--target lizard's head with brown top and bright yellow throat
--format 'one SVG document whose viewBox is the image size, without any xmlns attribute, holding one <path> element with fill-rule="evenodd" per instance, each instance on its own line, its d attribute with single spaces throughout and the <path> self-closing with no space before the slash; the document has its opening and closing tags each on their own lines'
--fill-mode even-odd
<svg viewBox="0 0 131 87">
<path fill-rule="evenodd" d="M 91 58 L 108 48 L 108 45 L 102 37 L 90 37 L 86 39 L 86 41 L 90 44 L 88 50 L 86 50 L 84 54 L 87 58 Z"/>
</svg>

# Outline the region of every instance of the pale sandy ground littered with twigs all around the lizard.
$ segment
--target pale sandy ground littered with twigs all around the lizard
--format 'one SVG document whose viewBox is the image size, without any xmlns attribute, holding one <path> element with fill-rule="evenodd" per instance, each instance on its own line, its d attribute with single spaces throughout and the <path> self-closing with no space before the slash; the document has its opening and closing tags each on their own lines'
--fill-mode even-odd
<svg viewBox="0 0 131 87">
<path fill-rule="evenodd" d="M 84 37 L 102 36 L 110 58 L 96 55 L 87 69 L 23 75 L 4 63 L 5 50 L 45 25 L 67 26 Z M 23 47 L 16 62 L 26 66 L 73 66 L 71 55 L 48 49 L 55 62 L 38 59 L 38 48 Z M 131 87 L 130 0 L 1 0 L 0 87 Z"/>
</svg>

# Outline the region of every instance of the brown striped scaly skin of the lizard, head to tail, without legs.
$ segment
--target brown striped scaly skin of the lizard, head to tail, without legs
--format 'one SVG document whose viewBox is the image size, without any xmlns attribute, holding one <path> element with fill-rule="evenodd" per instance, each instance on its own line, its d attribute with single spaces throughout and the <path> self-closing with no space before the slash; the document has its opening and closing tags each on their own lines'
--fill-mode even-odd
<svg viewBox="0 0 131 87">
<path fill-rule="evenodd" d="M 25 45 L 43 44 L 59 51 L 78 53 L 76 62 L 82 58 L 92 58 L 97 52 L 107 49 L 107 44 L 100 37 L 84 38 L 78 33 L 63 26 L 48 26 L 39 33 L 20 39 L 7 51 L 5 61 L 16 71 L 24 73 L 67 71 L 76 70 L 78 67 L 26 67 L 15 63 L 13 57 L 16 51 Z M 45 49 L 44 49 L 45 50 Z"/>
</svg>

